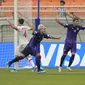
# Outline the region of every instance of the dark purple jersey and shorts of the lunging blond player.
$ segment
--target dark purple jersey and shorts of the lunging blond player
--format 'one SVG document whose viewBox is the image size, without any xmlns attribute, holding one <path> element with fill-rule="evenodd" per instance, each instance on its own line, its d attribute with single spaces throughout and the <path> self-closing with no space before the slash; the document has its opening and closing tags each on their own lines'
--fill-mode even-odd
<svg viewBox="0 0 85 85">
<path fill-rule="evenodd" d="M 25 49 L 22 51 L 22 53 L 25 56 L 28 56 L 29 54 L 36 56 L 37 53 L 39 53 L 35 47 L 43 40 L 43 38 L 50 38 L 49 35 L 45 34 L 45 33 L 40 33 L 37 32 L 30 40 L 30 42 L 27 44 L 27 46 L 25 47 Z"/>
</svg>

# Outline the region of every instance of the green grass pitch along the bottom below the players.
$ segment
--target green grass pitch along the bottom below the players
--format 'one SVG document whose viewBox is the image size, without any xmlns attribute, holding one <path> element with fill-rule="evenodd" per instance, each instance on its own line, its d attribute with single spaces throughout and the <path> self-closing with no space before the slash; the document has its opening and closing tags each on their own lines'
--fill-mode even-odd
<svg viewBox="0 0 85 85">
<path fill-rule="evenodd" d="M 57 68 L 45 68 L 46 73 L 31 72 L 22 69 L 10 72 L 10 69 L 0 69 L 0 85 L 85 85 L 85 68 L 73 68 L 72 72 Z"/>
</svg>

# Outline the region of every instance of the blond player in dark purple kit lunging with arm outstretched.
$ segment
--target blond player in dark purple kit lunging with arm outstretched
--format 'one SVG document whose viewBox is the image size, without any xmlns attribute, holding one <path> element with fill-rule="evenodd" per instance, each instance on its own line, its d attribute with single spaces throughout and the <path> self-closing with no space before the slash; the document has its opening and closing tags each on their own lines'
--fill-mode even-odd
<svg viewBox="0 0 85 85">
<path fill-rule="evenodd" d="M 20 55 L 8 62 L 8 67 L 10 67 L 12 63 L 18 62 L 19 60 L 22 60 L 29 54 L 31 54 L 36 57 L 37 72 L 45 72 L 44 70 L 40 69 L 41 55 L 35 49 L 35 47 L 43 40 L 43 38 L 60 39 L 60 37 L 56 38 L 46 34 L 45 26 L 42 24 L 38 26 L 38 30 L 38 32 L 34 33 L 33 37 L 31 38 L 27 46 L 24 48 L 24 50 L 20 53 Z"/>
</svg>

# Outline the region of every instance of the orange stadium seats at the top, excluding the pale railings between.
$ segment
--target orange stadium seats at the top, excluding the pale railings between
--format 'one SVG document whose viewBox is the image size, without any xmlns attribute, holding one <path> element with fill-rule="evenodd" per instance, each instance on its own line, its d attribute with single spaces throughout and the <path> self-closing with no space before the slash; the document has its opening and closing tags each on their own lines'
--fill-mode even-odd
<svg viewBox="0 0 85 85">
<path fill-rule="evenodd" d="M 70 0 L 70 2 L 69 2 L 69 0 L 65 0 L 65 2 L 66 2 L 65 6 L 84 6 L 85 5 L 85 0 Z M 13 0 L 6 0 L 6 2 L 2 3 L 2 6 L 13 6 L 13 4 L 14 4 Z M 21 0 L 18 0 L 19 6 L 22 6 L 23 4 L 26 6 L 28 5 L 28 3 L 23 3 Z M 37 0 L 32 0 L 32 6 L 37 6 L 37 4 L 38 4 Z M 40 0 L 40 5 L 41 6 L 60 6 L 60 0 Z M 3 8 L 3 9 L 10 10 L 11 8 Z M 32 10 L 35 11 L 35 10 L 37 10 L 37 8 L 32 8 Z M 49 12 L 44 12 L 44 13 L 41 12 L 40 13 L 41 16 L 48 16 L 48 17 L 54 16 L 53 12 L 51 12 L 54 10 L 54 8 L 47 8 L 47 7 L 41 8 L 41 11 L 43 11 L 43 10 L 49 11 Z M 58 10 L 58 9 L 56 8 L 55 10 Z M 77 11 L 77 10 L 85 10 L 85 8 L 67 8 L 66 10 L 67 11 Z M 34 12 L 32 14 L 33 14 L 33 16 L 37 16 L 36 12 Z M 56 13 L 56 14 L 58 14 L 58 13 Z M 3 13 L 3 16 L 4 15 L 12 16 L 12 13 L 5 12 L 5 13 Z"/>
</svg>

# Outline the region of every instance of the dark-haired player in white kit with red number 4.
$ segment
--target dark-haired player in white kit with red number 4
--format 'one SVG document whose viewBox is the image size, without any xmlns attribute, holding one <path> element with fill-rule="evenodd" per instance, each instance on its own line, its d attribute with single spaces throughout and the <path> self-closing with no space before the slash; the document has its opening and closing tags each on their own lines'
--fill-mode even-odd
<svg viewBox="0 0 85 85">
<path fill-rule="evenodd" d="M 18 26 L 14 26 L 9 20 L 7 20 L 9 25 L 18 31 L 18 46 L 16 48 L 16 53 L 15 53 L 15 56 L 19 55 L 20 52 L 25 48 L 25 46 L 27 45 L 27 43 L 29 42 L 29 34 L 28 34 L 28 31 L 32 30 L 33 32 L 35 31 L 35 29 L 33 28 L 33 26 L 31 26 L 29 24 L 29 26 L 24 26 L 24 19 L 19 19 L 18 20 Z M 31 55 L 29 55 L 27 57 L 29 63 L 31 64 L 33 70 L 36 69 L 36 66 L 31 58 Z M 18 62 L 15 63 L 15 67 L 14 67 L 14 70 L 15 72 L 18 71 Z"/>
</svg>

